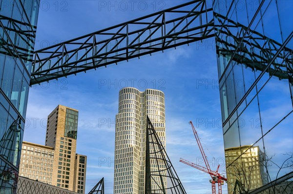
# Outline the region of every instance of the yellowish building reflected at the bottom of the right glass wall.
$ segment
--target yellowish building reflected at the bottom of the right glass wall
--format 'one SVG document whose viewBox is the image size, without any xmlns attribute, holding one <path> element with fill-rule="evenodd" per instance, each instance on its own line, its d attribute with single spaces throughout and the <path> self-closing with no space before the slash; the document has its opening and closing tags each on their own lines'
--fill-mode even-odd
<svg viewBox="0 0 293 194">
<path fill-rule="evenodd" d="M 263 163 L 265 155 L 258 146 L 229 148 L 225 150 L 225 157 L 229 194 L 233 193 L 236 179 L 246 191 L 254 190 L 266 183 Z M 241 159 L 238 159 L 239 157 Z"/>
</svg>

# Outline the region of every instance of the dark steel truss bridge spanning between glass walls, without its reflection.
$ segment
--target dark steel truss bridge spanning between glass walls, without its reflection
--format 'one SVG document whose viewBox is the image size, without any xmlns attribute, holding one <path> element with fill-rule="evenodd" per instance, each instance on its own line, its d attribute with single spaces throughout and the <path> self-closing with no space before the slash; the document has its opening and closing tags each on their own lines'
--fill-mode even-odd
<svg viewBox="0 0 293 194">
<path fill-rule="evenodd" d="M 30 85 L 214 36 L 212 8 L 193 0 L 35 51 Z"/>
</svg>

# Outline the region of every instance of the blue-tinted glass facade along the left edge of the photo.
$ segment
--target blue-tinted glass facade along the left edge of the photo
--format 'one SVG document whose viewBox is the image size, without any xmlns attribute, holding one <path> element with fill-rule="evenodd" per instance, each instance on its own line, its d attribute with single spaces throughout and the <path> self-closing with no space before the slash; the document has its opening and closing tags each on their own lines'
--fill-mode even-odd
<svg viewBox="0 0 293 194">
<path fill-rule="evenodd" d="M 16 192 L 40 0 L 0 0 L 0 193 Z"/>
</svg>

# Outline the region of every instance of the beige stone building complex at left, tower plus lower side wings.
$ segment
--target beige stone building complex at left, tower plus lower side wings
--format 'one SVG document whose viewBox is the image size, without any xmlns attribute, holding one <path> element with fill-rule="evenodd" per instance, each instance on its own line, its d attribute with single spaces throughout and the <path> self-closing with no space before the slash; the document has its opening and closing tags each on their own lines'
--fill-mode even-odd
<svg viewBox="0 0 293 194">
<path fill-rule="evenodd" d="M 77 110 L 58 105 L 48 116 L 45 146 L 23 142 L 21 176 L 83 194 L 86 156 L 76 154 L 77 123 Z"/>
</svg>

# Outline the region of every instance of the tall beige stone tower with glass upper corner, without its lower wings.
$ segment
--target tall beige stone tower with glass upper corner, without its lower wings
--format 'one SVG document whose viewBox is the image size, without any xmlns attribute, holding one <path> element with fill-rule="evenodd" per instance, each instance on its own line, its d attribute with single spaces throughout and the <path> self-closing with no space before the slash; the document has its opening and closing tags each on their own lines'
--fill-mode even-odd
<svg viewBox="0 0 293 194">
<path fill-rule="evenodd" d="M 58 105 L 48 116 L 46 146 L 59 151 L 55 154 L 52 184 L 73 191 L 74 163 L 76 154 L 78 111 Z M 72 179 L 72 180 L 71 180 Z"/>
</svg>

